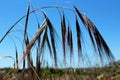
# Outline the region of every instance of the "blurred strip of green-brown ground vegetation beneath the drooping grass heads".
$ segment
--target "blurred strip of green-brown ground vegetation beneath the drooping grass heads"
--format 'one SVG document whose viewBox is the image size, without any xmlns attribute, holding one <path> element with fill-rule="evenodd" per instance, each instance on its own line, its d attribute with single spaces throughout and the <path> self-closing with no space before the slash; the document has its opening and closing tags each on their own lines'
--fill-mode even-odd
<svg viewBox="0 0 120 80">
<path fill-rule="evenodd" d="M 0 80 L 37 80 L 30 69 L 9 73 L 11 68 L 0 70 Z M 6 73 L 9 73 L 6 75 Z M 53 69 L 45 68 L 40 72 L 41 80 L 120 80 L 120 64 L 102 68 Z M 7 79 L 8 78 L 8 79 Z"/>
</svg>

